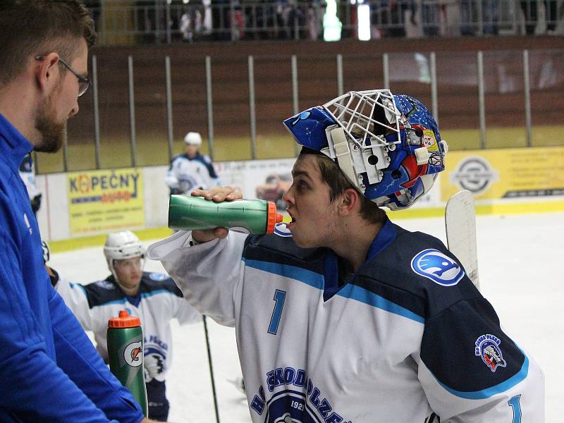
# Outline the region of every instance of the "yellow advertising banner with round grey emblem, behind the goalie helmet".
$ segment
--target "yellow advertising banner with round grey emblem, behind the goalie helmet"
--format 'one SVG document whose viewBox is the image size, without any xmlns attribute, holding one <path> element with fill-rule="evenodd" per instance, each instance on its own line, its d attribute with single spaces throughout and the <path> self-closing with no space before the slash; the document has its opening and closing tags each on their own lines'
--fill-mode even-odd
<svg viewBox="0 0 564 423">
<path fill-rule="evenodd" d="M 562 197 L 564 147 L 448 152 L 441 201 L 460 190 L 476 200 Z"/>
</svg>

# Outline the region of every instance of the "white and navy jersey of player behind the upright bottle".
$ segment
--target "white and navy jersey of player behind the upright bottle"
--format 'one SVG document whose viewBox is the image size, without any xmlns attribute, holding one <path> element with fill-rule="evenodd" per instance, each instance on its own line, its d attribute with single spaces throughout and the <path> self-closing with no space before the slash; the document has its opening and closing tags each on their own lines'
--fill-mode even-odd
<svg viewBox="0 0 564 423">
<path fill-rule="evenodd" d="M 108 360 L 108 320 L 118 316 L 122 309 L 141 319 L 145 364 L 150 362 L 156 367 L 146 372 L 146 382 L 153 378 L 166 379 L 172 363 L 171 319 L 178 319 L 180 324 L 201 319 L 201 314 L 183 299 L 172 279 L 164 274 L 143 272 L 140 292 L 135 297 L 125 295 L 114 276 L 88 285 L 69 283 L 59 277 L 55 288 L 82 328 L 94 332 L 96 348 L 104 361 Z"/>
</svg>

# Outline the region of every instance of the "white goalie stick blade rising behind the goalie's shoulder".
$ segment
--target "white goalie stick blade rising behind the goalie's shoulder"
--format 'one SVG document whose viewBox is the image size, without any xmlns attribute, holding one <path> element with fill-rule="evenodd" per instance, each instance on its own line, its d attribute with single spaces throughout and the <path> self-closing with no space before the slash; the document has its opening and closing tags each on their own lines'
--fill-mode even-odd
<svg viewBox="0 0 564 423">
<path fill-rule="evenodd" d="M 460 260 L 479 289 L 476 207 L 472 192 L 463 190 L 450 197 L 445 208 L 445 229 L 448 250 Z"/>
</svg>

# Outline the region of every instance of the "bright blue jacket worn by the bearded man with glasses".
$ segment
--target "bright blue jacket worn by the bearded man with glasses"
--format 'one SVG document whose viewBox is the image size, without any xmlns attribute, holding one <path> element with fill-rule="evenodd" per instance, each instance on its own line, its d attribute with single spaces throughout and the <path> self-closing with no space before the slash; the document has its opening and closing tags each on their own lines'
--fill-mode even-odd
<svg viewBox="0 0 564 423">
<path fill-rule="evenodd" d="M 18 173 L 32 147 L 0 114 L 0 422 L 140 422 L 44 269 Z"/>
</svg>

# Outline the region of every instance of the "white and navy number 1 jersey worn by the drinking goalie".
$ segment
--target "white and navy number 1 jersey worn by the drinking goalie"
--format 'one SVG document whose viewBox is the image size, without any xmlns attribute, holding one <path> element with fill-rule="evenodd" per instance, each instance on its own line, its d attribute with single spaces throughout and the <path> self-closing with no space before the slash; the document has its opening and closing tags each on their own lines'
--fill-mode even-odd
<svg viewBox="0 0 564 423">
<path fill-rule="evenodd" d="M 441 241 L 387 221 L 338 284 L 331 250 L 230 232 L 149 247 L 200 312 L 235 326 L 252 421 L 544 422 L 544 375 Z"/>
</svg>

